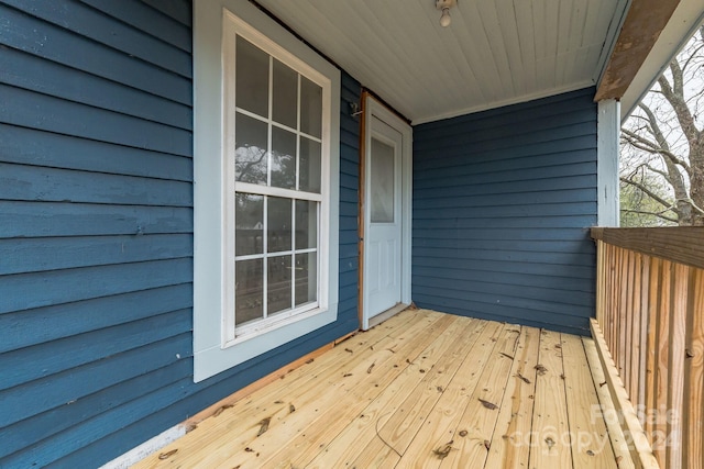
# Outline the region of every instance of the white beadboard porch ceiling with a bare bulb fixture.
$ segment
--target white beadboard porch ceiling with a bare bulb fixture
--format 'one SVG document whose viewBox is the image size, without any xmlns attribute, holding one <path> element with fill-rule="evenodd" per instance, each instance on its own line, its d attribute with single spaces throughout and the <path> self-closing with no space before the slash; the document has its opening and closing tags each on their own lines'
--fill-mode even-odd
<svg viewBox="0 0 704 469">
<path fill-rule="evenodd" d="M 257 0 L 413 123 L 595 85 L 627 0 Z"/>
</svg>

